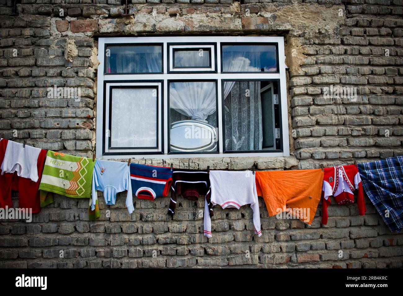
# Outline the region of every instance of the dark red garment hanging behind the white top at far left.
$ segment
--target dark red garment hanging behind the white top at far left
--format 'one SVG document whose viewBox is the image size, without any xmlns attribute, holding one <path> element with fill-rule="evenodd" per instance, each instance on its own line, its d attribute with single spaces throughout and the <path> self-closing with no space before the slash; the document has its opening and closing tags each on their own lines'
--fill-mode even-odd
<svg viewBox="0 0 403 296">
<path fill-rule="evenodd" d="M 12 143 L 15 142 L 8 141 L 7 139 L 0 139 L 0 164 L 3 163 L 6 154 L 6 147 L 8 147 L 8 145 L 14 146 Z M 29 146 L 25 146 L 25 148 L 28 147 Z M 0 175 L 0 208 L 5 208 L 6 206 L 8 208 L 12 207 L 11 191 L 13 190 L 19 192 L 18 207 L 20 209 L 23 211 L 25 209 L 31 209 L 32 213 L 38 213 L 41 211 L 38 188 L 40 179 L 42 177 L 46 152 L 46 150 L 39 149 L 39 155 L 36 159 L 35 168 L 33 168 L 35 172 L 30 172 L 31 176 L 37 176 L 37 182 L 33 182 L 31 178 L 23 178 L 22 176 L 19 176 L 19 172 L 23 172 L 23 170 L 17 169 L 13 173 L 2 171 L 2 174 Z M 32 155 L 31 157 L 35 157 L 35 155 L 36 154 Z M 29 162 L 32 161 L 30 160 Z"/>
</svg>

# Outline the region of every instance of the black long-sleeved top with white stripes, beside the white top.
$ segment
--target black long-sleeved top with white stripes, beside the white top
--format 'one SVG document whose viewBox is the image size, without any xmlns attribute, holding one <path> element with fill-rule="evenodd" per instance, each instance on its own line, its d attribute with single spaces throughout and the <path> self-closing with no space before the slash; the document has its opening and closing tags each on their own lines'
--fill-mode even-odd
<svg viewBox="0 0 403 296">
<path fill-rule="evenodd" d="M 206 196 L 210 216 L 213 215 L 210 203 L 210 179 L 206 170 L 174 169 L 172 173 L 171 200 L 168 214 L 173 215 L 177 204 L 177 196 L 197 201 L 200 195 Z"/>
</svg>

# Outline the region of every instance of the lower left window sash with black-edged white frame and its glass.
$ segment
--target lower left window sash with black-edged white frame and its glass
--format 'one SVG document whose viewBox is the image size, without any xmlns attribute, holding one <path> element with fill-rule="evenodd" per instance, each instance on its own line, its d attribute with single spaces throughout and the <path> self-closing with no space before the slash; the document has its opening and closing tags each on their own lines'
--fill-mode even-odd
<svg viewBox="0 0 403 296">
<path fill-rule="evenodd" d="M 102 155 L 162 153 L 162 81 L 104 81 L 104 87 L 97 102 L 104 106 L 97 116 L 103 117 L 102 125 L 97 120 Z"/>
</svg>

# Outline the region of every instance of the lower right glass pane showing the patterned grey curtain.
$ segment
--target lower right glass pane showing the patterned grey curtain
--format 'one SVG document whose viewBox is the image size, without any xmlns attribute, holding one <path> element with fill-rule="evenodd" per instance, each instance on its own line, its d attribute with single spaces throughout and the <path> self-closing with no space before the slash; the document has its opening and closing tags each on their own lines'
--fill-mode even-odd
<svg viewBox="0 0 403 296">
<path fill-rule="evenodd" d="M 273 147 L 273 92 L 268 81 L 224 81 L 226 151 Z"/>
</svg>

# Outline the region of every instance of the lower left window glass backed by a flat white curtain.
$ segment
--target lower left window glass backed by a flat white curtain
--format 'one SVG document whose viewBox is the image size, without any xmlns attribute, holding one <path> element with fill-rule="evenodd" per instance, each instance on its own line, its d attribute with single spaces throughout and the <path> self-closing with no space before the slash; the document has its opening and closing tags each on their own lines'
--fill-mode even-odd
<svg viewBox="0 0 403 296">
<path fill-rule="evenodd" d="M 111 147 L 157 146 L 157 88 L 112 88 Z"/>
</svg>

